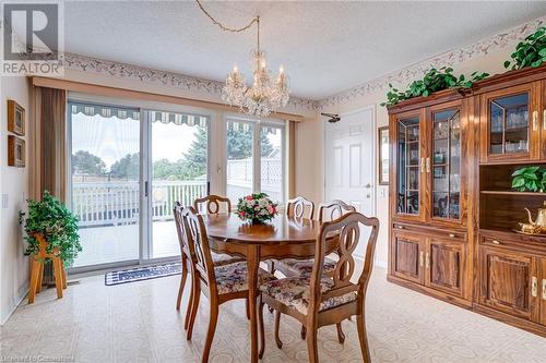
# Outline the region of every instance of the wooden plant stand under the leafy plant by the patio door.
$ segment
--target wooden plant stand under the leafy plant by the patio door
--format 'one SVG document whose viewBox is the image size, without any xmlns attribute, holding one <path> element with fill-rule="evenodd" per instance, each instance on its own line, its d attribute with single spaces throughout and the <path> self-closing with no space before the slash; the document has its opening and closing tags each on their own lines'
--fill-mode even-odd
<svg viewBox="0 0 546 363">
<path fill-rule="evenodd" d="M 28 304 L 34 303 L 34 298 L 36 293 L 41 291 L 41 279 L 44 277 L 44 264 L 46 258 L 50 258 L 54 264 L 54 276 L 55 286 L 57 288 L 57 298 L 62 299 L 62 290 L 67 288 L 67 273 L 64 271 L 64 265 L 59 257 L 59 251 L 54 250 L 52 253 L 46 252 L 47 242 L 46 239 L 40 235 L 35 235 L 39 243 L 39 252 L 37 255 L 31 257 L 31 287 L 28 289 Z"/>
</svg>

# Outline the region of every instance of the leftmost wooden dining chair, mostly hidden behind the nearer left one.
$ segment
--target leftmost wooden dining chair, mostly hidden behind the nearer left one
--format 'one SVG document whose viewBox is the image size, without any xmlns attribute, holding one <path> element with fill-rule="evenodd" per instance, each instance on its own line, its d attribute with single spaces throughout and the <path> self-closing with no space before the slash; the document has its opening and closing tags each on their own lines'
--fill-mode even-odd
<svg viewBox="0 0 546 363">
<path fill-rule="evenodd" d="M 188 274 L 190 273 L 190 269 L 188 268 L 188 266 L 191 264 L 191 261 L 192 261 L 187 233 L 183 229 L 183 220 L 182 220 L 183 209 L 185 208 L 180 204 L 180 202 L 175 202 L 175 207 L 173 208 L 173 215 L 175 217 L 175 227 L 176 227 L 176 232 L 177 232 L 177 237 L 178 237 L 178 243 L 180 245 L 180 257 L 181 257 L 181 263 L 182 263 L 180 286 L 178 288 L 178 297 L 176 300 L 176 310 L 177 311 L 180 311 L 180 304 L 182 301 L 183 289 L 186 287 Z M 224 254 L 212 253 L 212 261 L 213 261 L 214 266 L 223 266 L 223 265 L 227 265 L 230 263 L 239 262 L 239 261 L 241 261 L 241 258 L 232 257 L 232 256 L 224 255 Z M 190 278 L 190 282 L 191 281 L 193 281 L 193 278 Z M 193 301 L 193 288 L 190 289 L 190 299 L 189 299 L 189 303 L 188 303 L 188 308 L 186 310 L 186 318 L 183 322 L 185 329 L 188 329 L 192 301 Z"/>
</svg>

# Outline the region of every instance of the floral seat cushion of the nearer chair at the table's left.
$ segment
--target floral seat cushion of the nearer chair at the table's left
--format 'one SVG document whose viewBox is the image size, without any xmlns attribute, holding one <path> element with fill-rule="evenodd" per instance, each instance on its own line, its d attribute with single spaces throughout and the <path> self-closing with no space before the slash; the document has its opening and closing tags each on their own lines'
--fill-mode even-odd
<svg viewBox="0 0 546 363">
<path fill-rule="evenodd" d="M 246 262 L 214 267 L 218 294 L 248 290 L 248 268 Z M 259 285 L 270 282 L 276 278 L 266 270 L 258 269 Z"/>
</svg>

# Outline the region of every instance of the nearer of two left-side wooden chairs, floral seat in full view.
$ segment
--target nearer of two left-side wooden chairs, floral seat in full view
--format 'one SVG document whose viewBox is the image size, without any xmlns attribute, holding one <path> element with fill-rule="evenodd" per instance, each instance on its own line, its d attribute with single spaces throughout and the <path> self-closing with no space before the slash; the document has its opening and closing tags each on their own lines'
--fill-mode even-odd
<svg viewBox="0 0 546 363">
<path fill-rule="evenodd" d="M 200 297 L 201 293 L 204 293 L 209 298 L 210 320 L 201 361 L 209 362 L 219 305 L 234 299 L 245 299 L 248 302 L 247 263 L 238 262 L 224 266 L 214 266 L 203 217 L 193 207 L 187 207 L 182 210 L 182 221 L 188 244 L 192 252 L 191 269 L 194 279 L 192 283 L 194 299 L 192 301 L 187 339 L 191 340 Z M 259 285 L 274 279 L 273 275 L 259 268 Z"/>
</svg>

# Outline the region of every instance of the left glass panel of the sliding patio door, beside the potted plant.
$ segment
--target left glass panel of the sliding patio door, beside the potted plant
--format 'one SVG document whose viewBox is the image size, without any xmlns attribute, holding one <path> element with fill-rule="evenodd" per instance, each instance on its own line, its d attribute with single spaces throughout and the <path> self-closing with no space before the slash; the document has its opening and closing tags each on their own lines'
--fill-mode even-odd
<svg viewBox="0 0 546 363">
<path fill-rule="evenodd" d="M 140 110 L 69 101 L 70 204 L 83 251 L 72 267 L 140 258 Z"/>
</svg>

